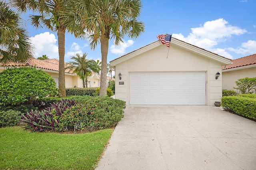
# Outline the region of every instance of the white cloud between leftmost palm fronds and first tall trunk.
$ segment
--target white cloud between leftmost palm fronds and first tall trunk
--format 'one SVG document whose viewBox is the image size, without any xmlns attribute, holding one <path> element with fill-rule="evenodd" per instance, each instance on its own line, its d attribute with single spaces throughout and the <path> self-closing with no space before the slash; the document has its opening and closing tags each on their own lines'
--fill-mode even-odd
<svg viewBox="0 0 256 170">
<path fill-rule="evenodd" d="M 46 55 L 49 58 L 59 58 L 58 46 L 56 45 L 57 39 L 54 34 L 44 32 L 30 38 L 34 44 L 34 57 L 42 57 Z"/>
</svg>

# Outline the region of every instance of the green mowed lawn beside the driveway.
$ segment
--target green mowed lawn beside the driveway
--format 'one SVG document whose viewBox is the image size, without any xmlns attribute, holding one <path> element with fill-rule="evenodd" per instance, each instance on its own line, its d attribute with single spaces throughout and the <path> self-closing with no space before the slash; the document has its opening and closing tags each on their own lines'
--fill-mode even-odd
<svg viewBox="0 0 256 170">
<path fill-rule="evenodd" d="M 0 169 L 94 169 L 112 129 L 86 134 L 0 128 Z"/>
</svg>

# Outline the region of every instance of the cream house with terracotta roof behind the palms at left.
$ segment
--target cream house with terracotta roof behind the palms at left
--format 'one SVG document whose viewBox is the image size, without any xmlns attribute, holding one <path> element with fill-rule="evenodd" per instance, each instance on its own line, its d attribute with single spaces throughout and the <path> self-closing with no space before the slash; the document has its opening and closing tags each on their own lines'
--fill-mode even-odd
<svg viewBox="0 0 256 170">
<path fill-rule="evenodd" d="M 35 59 L 32 58 L 28 63 L 10 63 L 6 67 L 0 67 L 0 72 L 7 67 L 26 67 L 33 66 L 37 69 L 42 69 L 44 72 L 52 76 L 56 82 L 56 86 L 59 85 L 59 60 L 58 59 Z M 108 81 L 110 77 L 107 77 Z M 107 81 L 107 83 L 108 83 Z M 83 87 L 83 81 L 75 73 L 69 73 L 69 70 L 65 71 L 65 85 L 66 88 Z M 92 76 L 88 77 L 88 87 L 100 87 L 100 75 L 92 73 Z"/>
</svg>

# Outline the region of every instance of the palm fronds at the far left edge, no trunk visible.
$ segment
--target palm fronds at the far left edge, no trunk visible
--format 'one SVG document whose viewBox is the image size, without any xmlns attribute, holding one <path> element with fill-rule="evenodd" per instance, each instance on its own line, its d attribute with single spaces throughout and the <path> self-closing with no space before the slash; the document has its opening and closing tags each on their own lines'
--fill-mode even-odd
<svg viewBox="0 0 256 170">
<path fill-rule="evenodd" d="M 20 16 L 0 1 L 0 65 L 26 63 L 33 57 L 34 47 L 21 25 Z"/>
</svg>

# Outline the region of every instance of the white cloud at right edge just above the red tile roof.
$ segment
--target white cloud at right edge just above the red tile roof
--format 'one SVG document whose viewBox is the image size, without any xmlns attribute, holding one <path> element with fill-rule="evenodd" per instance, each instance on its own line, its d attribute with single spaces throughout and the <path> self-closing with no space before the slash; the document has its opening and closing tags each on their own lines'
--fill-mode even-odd
<svg viewBox="0 0 256 170">
<path fill-rule="evenodd" d="M 234 49 L 234 48 L 228 48 L 229 51 L 242 54 L 242 55 L 251 55 L 255 53 L 256 49 L 256 41 L 254 40 L 248 40 L 248 42 L 244 42 L 241 44 L 240 47 Z"/>
</svg>

